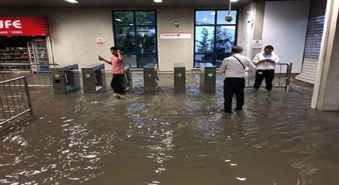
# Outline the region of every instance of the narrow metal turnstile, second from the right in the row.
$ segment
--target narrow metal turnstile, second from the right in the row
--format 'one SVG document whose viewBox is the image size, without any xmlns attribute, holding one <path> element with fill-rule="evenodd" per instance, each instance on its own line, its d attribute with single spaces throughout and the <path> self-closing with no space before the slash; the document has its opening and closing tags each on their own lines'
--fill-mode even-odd
<svg viewBox="0 0 339 185">
<path fill-rule="evenodd" d="M 186 90 L 186 68 L 184 64 L 174 64 L 174 93 L 185 93 Z"/>
</svg>

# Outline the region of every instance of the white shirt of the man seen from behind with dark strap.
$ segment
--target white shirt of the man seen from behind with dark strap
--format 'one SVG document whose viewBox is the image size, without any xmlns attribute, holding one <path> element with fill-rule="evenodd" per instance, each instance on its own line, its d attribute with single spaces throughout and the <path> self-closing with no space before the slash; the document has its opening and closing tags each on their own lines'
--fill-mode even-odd
<svg viewBox="0 0 339 185">
<path fill-rule="evenodd" d="M 243 69 L 243 66 L 235 57 L 225 58 L 220 66 L 220 72 L 225 75 L 225 78 L 243 78 L 245 77 L 245 72 L 255 70 L 255 65 L 250 58 L 244 57 L 241 54 L 234 54 L 234 56 L 240 60 L 243 66 L 247 66 L 248 69 Z"/>
</svg>

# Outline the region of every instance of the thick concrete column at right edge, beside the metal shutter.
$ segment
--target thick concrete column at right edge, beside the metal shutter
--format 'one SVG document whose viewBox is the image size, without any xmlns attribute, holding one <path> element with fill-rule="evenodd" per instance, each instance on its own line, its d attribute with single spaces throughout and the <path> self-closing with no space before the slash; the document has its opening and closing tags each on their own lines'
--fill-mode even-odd
<svg viewBox="0 0 339 185">
<path fill-rule="evenodd" d="M 339 0 L 328 0 L 323 48 L 314 86 L 312 107 L 319 110 L 339 110 Z M 326 21 L 325 21 L 326 22 Z M 325 32 L 326 30 L 326 32 Z"/>
</svg>

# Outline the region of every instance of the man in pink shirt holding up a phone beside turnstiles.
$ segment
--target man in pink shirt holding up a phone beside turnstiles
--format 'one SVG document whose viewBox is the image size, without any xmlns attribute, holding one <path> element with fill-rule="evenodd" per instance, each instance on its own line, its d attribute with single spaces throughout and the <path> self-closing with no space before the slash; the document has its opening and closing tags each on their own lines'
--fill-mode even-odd
<svg viewBox="0 0 339 185">
<path fill-rule="evenodd" d="M 99 57 L 99 60 L 105 61 L 106 63 L 112 65 L 113 77 L 112 81 L 110 82 L 110 86 L 114 90 L 114 93 L 119 95 L 125 94 L 124 88 L 122 86 L 124 78 L 123 57 L 120 53 L 120 50 L 118 50 L 118 48 L 115 46 L 110 48 L 110 53 L 112 54 L 110 61 L 107 61 L 102 57 Z"/>
</svg>

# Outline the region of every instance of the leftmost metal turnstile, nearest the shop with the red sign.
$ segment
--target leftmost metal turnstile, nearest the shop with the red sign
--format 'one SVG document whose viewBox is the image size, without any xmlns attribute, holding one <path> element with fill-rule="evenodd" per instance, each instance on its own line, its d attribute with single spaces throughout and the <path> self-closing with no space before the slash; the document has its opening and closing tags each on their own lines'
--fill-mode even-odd
<svg viewBox="0 0 339 185">
<path fill-rule="evenodd" d="M 54 94 L 66 94 L 80 89 L 78 64 L 51 67 Z"/>
</svg>

